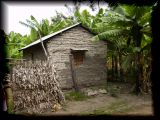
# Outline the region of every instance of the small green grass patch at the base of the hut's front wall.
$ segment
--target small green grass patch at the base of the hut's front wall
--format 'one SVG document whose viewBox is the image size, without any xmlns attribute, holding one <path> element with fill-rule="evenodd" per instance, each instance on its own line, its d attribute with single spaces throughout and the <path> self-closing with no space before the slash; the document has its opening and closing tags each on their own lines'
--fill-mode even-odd
<svg viewBox="0 0 160 120">
<path fill-rule="evenodd" d="M 89 98 L 86 96 L 83 92 L 70 92 L 65 94 L 66 100 L 71 100 L 71 101 L 83 101 Z"/>
</svg>

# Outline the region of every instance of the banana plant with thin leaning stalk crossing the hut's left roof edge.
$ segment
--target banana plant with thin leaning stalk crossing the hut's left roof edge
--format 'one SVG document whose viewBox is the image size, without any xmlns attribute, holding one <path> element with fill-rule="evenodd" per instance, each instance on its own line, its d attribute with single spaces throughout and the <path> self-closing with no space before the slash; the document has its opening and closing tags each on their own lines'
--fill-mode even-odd
<svg viewBox="0 0 160 120">
<path fill-rule="evenodd" d="M 31 20 L 26 19 L 26 22 L 20 21 L 22 25 L 31 28 L 30 38 L 32 41 L 36 40 L 37 38 L 40 39 L 42 48 L 44 50 L 45 55 L 48 57 L 48 53 L 46 48 L 44 47 L 42 37 L 48 34 L 54 33 L 58 30 L 61 30 L 65 27 L 68 27 L 73 24 L 72 20 L 66 18 L 62 13 L 56 12 L 57 15 L 52 18 L 52 23 L 49 23 L 49 20 L 43 19 L 42 22 L 38 22 L 34 16 L 30 16 Z"/>
</svg>

